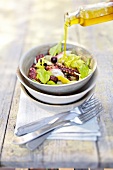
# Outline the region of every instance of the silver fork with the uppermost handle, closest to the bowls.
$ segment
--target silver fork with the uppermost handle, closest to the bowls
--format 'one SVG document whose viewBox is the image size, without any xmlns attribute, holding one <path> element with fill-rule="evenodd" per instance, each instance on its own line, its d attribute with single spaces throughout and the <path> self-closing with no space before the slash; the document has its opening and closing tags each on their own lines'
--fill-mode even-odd
<svg viewBox="0 0 113 170">
<path fill-rule="evenodd" d="M 21 135 L 25 135 L 27 133 L 33 132 L 37 129 L 42 128 L 43 126 L 47 124 L 50 125 L 51 123 L 59 121 L 60 119 L 63 119 L 70 114 L 78 115 L 78 114 L 85 113 L 91 108 L 95 107 L 97 103 L 98 103 L 98 100 L 94 98 L 93 96 L 91 96 L 82 105 L 73 108 L 71 111 L 62 112 L 62 113 L 59 113 L 59 114 L 56 114 L 50 117 L 43 118 L 38 121 L 34 121 L 32 123 L 28 123 L 26 125 L 20 126 L 17 129 L 16 135 L 21 136 Z"/>
</svg>

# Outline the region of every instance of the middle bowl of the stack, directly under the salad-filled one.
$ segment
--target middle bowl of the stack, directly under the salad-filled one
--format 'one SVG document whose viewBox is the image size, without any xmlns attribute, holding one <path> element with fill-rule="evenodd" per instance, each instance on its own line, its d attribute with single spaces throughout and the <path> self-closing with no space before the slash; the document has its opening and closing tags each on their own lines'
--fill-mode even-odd
<svg viewBox="0 0 113 170">
<path fill-rule="evenodd" d="M 78 90 L 76 93 L 71 95 L 53 95 L 53 94 L 45 94 L 41 91 L 38 91 L 34 86 L 32 86 L 26 79 L 22 76 L 19 69 L 17 70 L 17 77 L 20 83 L 28 90 L 28 92 L 35 97 L 37 100 L 49 104 L 69 104 L 76 102 L 83 98 L 91 89 L 93 89 L 96 85 L 97 80 L 97 70 L 91 77 L 88 83 L 85 84 L 83 88 Z"/>
</svg>

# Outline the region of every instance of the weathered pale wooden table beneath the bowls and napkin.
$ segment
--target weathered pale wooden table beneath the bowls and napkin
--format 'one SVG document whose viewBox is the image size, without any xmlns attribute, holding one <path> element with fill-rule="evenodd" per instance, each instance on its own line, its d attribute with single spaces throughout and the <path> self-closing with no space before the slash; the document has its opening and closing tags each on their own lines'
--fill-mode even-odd
<svg viewBox="0 0 113 170">
<path fill-rule="evenodd" d="M 16 78 L 19 59 L 28 49 L 58 42 L 64 13 L 99 0 L 5 0 L 0 2 L 0 166 L 18 168 L 113 167 L 113 22 L 69 28 L 68 40 L 85 46 L 96 57 L 99 78 L 95 93 L 104 111 L 97 142 L 46 140 L 30 152 L 12 144 L 19 106 Z"/>
</svg>

